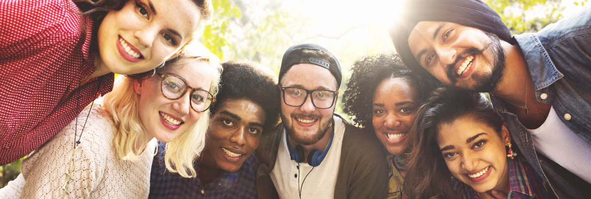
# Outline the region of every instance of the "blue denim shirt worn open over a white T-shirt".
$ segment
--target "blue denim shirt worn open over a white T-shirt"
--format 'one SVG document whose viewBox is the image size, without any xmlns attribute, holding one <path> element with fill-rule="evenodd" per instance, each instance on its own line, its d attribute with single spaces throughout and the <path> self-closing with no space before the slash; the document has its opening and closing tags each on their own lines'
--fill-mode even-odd
<svg viewBox="0 0 591 199">
<path fill-rule="evenodd" d="M 571 131 L 591 143 L 591 9 L 514 39 L 527 62 L 537 100 L 552 105 Z M 589 184 L 579 183 L 580 178 L 537 155 L 530 132 L 517 116 L 506 111 L 498 97 L 491 96 L 491 101 L 507 122 L 512 141 L 557 196 L 583 197 Z"/>
</svg>

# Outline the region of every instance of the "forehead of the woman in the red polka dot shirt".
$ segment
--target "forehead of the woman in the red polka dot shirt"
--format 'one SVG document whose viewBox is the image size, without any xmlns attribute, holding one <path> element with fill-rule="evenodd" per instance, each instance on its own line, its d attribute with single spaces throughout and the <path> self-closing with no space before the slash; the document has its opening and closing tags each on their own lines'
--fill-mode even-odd
<svg viewBox="0 0 591 199">
<path fill-rule="evenodd" d="M 154 6 L 156 15 L 154 21 L 174 29 L 183 38 L 192 37 L 201 19 L 199 7 L 191 0 L 139 0 Z M 147 8 L 149 9 L 149 8 Z"/>
</svg>

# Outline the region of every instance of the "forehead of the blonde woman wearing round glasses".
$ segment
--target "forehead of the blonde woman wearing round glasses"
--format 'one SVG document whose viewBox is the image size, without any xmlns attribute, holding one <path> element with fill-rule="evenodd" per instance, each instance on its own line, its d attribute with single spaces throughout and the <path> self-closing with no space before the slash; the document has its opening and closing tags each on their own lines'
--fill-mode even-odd
<svg viewBox="0 0 591 199">
<path fill-rule="evenodd" d="M 183 64 L 172 64 L 165 67 L 165 72 L 183 78 L 190 87 L 209 91 L 215 69 L 207 62 L 197 59 L 184 61 Z"/>
</svg>

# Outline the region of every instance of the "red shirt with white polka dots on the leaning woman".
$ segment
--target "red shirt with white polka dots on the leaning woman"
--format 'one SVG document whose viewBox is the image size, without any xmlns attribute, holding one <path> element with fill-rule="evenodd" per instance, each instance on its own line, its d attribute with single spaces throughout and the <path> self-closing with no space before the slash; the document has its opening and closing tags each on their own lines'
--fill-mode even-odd
<svg viewBox="0 0 591 199">
<path fill-rule="evenodd" d="M 113 88 L 112 73 L 77 88 L 95 68 L 92 19 L 76 12 L 70 0 L 0 0 L 0 165 L 42 145 Z"/>
</svg>

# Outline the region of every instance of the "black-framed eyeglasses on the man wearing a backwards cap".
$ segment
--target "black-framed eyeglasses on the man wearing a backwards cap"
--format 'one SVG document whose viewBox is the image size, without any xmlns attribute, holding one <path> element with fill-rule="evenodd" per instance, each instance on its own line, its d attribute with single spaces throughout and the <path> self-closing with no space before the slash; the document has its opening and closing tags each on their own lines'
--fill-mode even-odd
<svg viewBox="0 0 591 199">
<path fill-rule="evenodd" d="M 306 102 L 308 94 L 312 100 L 312 104 L 316 108 L 330 108 L 335 104 L 335 98 L 339 91 L 331 91 L 327 89 L 316 89 L 309 91 L 297 87 L 281 87 L 283 92 L 283 102 L 292 107 L 299 107 Z"/>
</svg>

